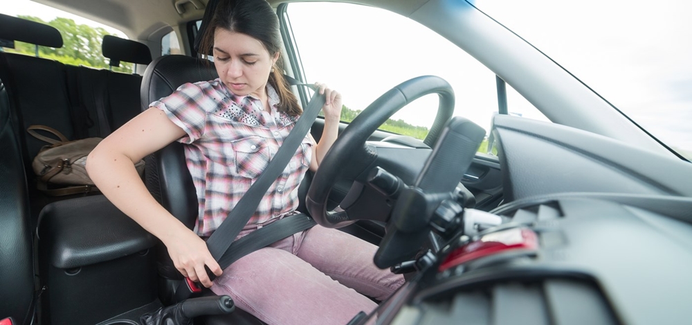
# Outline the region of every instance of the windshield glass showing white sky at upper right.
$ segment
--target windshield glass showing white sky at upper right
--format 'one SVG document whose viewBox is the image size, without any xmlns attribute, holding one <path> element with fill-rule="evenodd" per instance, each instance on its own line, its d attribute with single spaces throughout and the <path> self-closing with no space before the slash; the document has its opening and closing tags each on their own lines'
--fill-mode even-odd
<svg viewBox="0 0 692 325">
<path fill-rule="evenodd" d="M 692 160 L 692 2 L 477 0 L 473 5 Z"/>
</svg>

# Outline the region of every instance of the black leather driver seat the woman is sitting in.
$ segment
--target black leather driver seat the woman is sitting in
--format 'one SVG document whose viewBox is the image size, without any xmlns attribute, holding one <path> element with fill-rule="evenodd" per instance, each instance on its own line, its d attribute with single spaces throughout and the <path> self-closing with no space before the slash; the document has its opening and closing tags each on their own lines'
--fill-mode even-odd
<svg viewBox="0 0 692 325">
<path fill-rule="evenodd" d="M 186 55 L 166 55 L 154 60 L 144 73 L 140 98 L 142 110 L 149 104 L 173 93 L 186 82 L 198 82 L 217 78 L 214 65 L 206 60 Z M 183 225 L 194 229 L 197 221 L 198 204 L 192 176 L 185 164 L 183 145 L 174 141 L 165 148 L 145 158 L 145 184 L 154 198 L 178 218 Z M 304 197 L 311 180 L 307 173 L 299 189 L 300 206 L 304 209 Z M 175 290 L 183 280 L 176 270 L 163 243 L 156 247 L 156 265 L 159 276 L 159 298 L 164 305 L 174 302 Z M 215 295 L 211 290 L 203 290 L 204 295 Z M 264 324 L 244 310 L 236 308 L 229 315 L 206 317 L 206 324 Z"/>
</svg>

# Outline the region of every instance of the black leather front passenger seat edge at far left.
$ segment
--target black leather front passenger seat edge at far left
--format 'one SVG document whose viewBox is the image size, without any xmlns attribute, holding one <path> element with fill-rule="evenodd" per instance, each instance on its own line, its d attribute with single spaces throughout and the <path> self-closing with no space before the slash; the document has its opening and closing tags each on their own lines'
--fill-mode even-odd
<svg viewBox="0 0 692 325">
<path fill-rule="evenodd" d="M 0 319 L 28 324 L 34 291 L 28 193 L 9 106 L 0 80 Z"/>
</svg>

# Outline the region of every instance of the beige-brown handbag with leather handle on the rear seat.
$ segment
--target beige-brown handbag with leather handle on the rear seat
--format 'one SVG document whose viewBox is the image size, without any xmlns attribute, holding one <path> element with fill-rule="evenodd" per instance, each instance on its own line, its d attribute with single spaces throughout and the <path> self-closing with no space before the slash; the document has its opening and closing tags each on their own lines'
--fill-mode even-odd
<svg viewBox="0 0 692 325">
<path fill-rule="evenodd" d="M 36 130 L 50 132 L 58 139 L 45 137 Z M 86 173 L 86 156 L 101 142 L 101 138 L 69 141 L 62 133 L 45 125 L 31 125 L 26 132 L 51 143 L 39 151 L 31 164 L 40 191 L 51 196 L 98 191 Z M 140 176 L 144 173 L 144 165 L 143 160 L 135 164 Z"/>
</svg>

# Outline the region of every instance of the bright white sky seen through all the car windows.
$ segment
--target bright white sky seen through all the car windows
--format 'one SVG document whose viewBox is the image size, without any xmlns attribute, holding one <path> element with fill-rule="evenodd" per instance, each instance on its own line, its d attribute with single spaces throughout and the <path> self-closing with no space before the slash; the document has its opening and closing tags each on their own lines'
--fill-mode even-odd
<svg viewBox="0 0 692 325">
<path fill-rule="evenodd" d="M 46 21 L 60 15 L 124 37 L 108 26 L 32 1 L 4 2 L 0 12 L 7 15 L 34 15 Z M 655 137 L 670 146 L 692 152 L 692 127 L 689 126 L 692 125 L 692 19 L 689 17 L 692 2 L 476 0 L 474 3 L 559 62 Z M 313 5 L 316 4 L 310 4 Z M 379 14 L 370 17 L 359 12 L 356 24 L 345 11 L 348 6 L 341 15 L 334 17 L 316 17 L 311 12 L 303 12 L 304 17 L 313 19 L 310 21 L 322 18 L 325 25 L 331 22 L 334 26 L 348 28 L 343 34 L 330 28 L 316 30 L 314 25 L 301 26 L 300 21 L 309 19 L 300 19 L 297 8 L 297 3 L 291 4 L 289 14 L 295 17 L 292 24 L 299 46 L 302 46 L 302 60 L 311 62 L 305 64 L 307 78 L 310 82 L 327 82 L 340 90 L 348 107 L 363 109 L 399 82 L 433 74 L 453 85 L 457 97 L 455 115 L 466 116 L 489 129 L 487 121 L 497 107 L 494 75 L 487 73 L 485 67 L 463 51 L 446 45 L 446 39 L 421 31 L 420 26 L 414 26 L 416 23 L 399 24 L 397 21 L 406 19 L 394 14 L 383 18 Z M 370 22 L 384 26 L 380 28 L 381 34 L 370 40 L 358 37 L 374 33 L 368 28 Z M 388 27 L 396 28 L 396 33 Z M 298 35 L 300 28 L 313 33 L 310 37 Z M 334 35 L 342 38 L 334 39 Z M 313 42 L 315 39 L 318 41 Z M 425 45 L 404 49 L 401 44 L 410 44 L 411 39 L 424 39 Z M 342 44 L 357 44 L 357 48 Z M 430 53 L 430 48 L 444 51 Z M 377 56 L 376 53 L 386 55 Z M 396 72 L 384 72 L 382 67 L 387 65 L 395 67 Z M 511 87 L 508 96 L 510 112 L 545 119 Z M 414 125 L 431 125 L 434 114 L 428 112 L 437 107 L 437 99 L 421 98 L 414 104 L 395 118 L 403 118 Z"/>
</svg>

